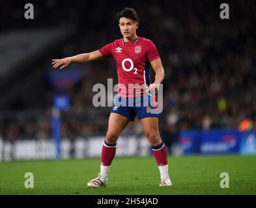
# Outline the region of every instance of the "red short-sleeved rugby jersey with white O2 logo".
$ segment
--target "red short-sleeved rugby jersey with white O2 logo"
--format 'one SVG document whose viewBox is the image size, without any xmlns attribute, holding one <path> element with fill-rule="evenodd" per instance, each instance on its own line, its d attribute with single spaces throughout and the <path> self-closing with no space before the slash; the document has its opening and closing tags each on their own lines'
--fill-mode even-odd
<svg viewBox="0 0 256 208">
<path fill-rule="evenodd" d="M 134 42 L 115 40 L 102 47 L 100 53 L 104 57 L 113 57 L 117 63 L 118 92 L 121 96 L 141 96 L 141 92 L 147 94 L 145 86 L 150 85 L 150 62 L 160 58 L 151 40 L 138 36 Z"/>
</svg>

